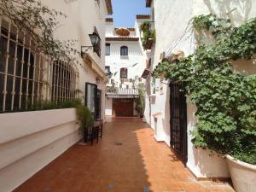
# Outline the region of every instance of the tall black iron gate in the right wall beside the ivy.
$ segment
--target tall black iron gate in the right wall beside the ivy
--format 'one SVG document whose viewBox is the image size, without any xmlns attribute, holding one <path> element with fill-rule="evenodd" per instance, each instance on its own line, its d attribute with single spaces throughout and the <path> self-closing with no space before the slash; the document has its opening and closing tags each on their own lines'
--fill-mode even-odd
<svg viewBox="0 0 256 192">
<path fill-rule="evenodd" d="M 188 160 L 187 142 L 187 104 L 186 96 L 180 91 L 182 84 L 172 82 L 170 84 L 170 109 L 171 109 L 171 147 L 186 165 Z"/>
</svg>

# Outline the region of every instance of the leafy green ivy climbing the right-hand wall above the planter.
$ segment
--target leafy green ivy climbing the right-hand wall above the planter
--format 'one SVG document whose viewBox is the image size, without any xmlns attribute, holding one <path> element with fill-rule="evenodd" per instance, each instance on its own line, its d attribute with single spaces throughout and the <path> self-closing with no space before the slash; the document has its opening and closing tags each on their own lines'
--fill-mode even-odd
<svg viewBox="0 0 256 192">
<path fill-rule="evenodd" d="M 256 53 L 256 19 L 231 27 L 230 20 L 200 15 L 193 26 L 212 32 L 214 41 L 200 44 L 181 61 L 162 61 L 154 76 L 183 82 L 197 107 L 195 147 L 256 165 L 256 75 L 236 73 L 231 64 Z"/>
</svg>

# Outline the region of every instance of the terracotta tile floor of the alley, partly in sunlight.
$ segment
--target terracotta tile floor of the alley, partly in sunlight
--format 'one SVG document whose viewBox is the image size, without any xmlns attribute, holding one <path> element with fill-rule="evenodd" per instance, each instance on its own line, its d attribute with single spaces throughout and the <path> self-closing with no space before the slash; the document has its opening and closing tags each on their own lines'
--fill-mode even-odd
<svg viewBox="0 0 256 192">
<path fill-rule="evenodd" d="M 115 145 L 122 143 L 122 145 Z M 74 145 L 15 192 L 233 192 L 198 182 L 140 119 L 108 119 L 93 146 Z"/>
</svg>

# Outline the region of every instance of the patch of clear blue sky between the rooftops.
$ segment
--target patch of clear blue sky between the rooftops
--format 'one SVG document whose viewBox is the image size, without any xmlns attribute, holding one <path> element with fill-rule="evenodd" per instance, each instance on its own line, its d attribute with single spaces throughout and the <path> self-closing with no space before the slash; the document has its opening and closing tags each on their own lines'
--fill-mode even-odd
<svg viewBox="0 0 256 192">
<path fill-rule="evenodd" d="M 133 27 L 136 15 L 148 15 L 146 0 L 112 0 L 114 26 Z"/>
</svg>

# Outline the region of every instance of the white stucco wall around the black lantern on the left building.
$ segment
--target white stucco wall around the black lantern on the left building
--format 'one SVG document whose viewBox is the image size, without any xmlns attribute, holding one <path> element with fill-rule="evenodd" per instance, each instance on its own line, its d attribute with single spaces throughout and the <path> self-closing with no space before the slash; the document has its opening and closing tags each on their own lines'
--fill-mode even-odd
<svg viewBox="0 0 256 192">
<path fill-rule="evenodd" d="M 101 57 L 96 55 L 91 49 L 87 52 L 96 61 L 97 65 L 105 69 L 105 17 L 107 15 L 107 9 L 105 1 L 99 1 L 100 6 L 97 5 L 96 1 L 90 0 L 42 0 L 42 3 L 49 6 L 49 8 L 56 9 L 67 15 L 67 18 L 60 18 L 61 25 L 55 31 L 55 38 L 62 41 L 66 40 L 78 40 L 75 45 L 75 49 L 80 50 L 81 46 L 91 46 L 89 34 L 94 32 L 94 27 L 99 33 L 102 40 L 102 52 Z M 99 9 L 100 7 L 100 9 Z M 82 90 L 81 94 L 84 102 L 85 96 L 85 82 L 96 84 L 96 77 L 90 67 L 78 57 L 78 61 L 82 63 L 83 67 L 75 64 L 79 71 L 79 90 Z M 102 90 L 102 119 L 104 119 L 105 111 L 105 83 L 101 80 L 100 84 L 97 84 L 98 89 Z"/>
</svg>

